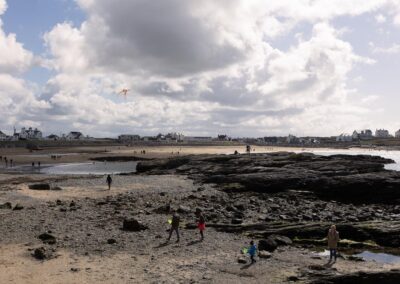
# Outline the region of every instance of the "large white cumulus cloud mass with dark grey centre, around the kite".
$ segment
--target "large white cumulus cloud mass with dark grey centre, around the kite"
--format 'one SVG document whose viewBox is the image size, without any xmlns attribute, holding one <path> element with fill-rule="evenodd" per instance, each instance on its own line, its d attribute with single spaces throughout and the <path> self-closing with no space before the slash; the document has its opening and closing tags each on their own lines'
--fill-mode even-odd
<svg viewBox="0 0 400 284">
<path fill-rule="evenodd" d="M 333 3 L 335 2 L 335 3 Z M 387 1 L 78 0 L 80 27 L 45 36 L 58 75 L 47 115 L 90 133 L 184 131 L 328 134 L 363 120 L 348 100 L 357 55 L 330 21 L 379 11 Z M 310 35 L 289 39 L 299 24 Z M 127 99 L 118 97 L 130 88 Z M 326 117 L 329 114 L 329 117 Z M 307 121 L 307 123 L 305 123 Z M 331 127 L 318 127 L 321 121 Z"/>
</svg>

